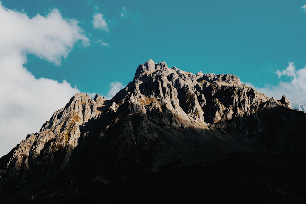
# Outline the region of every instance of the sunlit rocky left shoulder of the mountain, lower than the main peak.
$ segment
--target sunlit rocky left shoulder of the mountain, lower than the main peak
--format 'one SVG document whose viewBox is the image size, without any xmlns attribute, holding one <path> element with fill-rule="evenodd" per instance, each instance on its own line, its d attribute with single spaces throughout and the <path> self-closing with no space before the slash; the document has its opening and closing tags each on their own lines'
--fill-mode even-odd
<svg viewBox="0 0 306 204">
<path fill-rule="evenodd" d="M 99 115 L 98 107 L 106 99 L 85 94 L 74 95 L 69 103 L 46 121 L 39 133 L 29 134 L 0 160 L 0 184 L 9 181 L 11 189 L 28 182 L 34 176 L 48 175 L 69 163 L 73 149 L 78 145 L 80 127 Z M 0 189 L 2 191 L 2 188 Z"/>
</svg>

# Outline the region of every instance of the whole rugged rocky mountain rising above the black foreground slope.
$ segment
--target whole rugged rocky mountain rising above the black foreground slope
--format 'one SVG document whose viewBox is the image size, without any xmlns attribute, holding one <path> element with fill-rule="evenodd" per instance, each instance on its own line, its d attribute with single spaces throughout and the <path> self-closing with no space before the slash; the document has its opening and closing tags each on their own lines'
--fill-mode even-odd
<svg viewBox="0 0 306 204">
<path fill-rule="evenodd" d="M 112 99 L 74 95 L 3 156 L 0 194 L 11 195 L 6 202 L 13 195 L 76 196 L 95 182 L 108 186 L 233 152 L 305 154 L 306 114 L 290 107 L 285 96 L 268 98 L 235 75 L 192 74 L 149 60 Z"/>
</svg>

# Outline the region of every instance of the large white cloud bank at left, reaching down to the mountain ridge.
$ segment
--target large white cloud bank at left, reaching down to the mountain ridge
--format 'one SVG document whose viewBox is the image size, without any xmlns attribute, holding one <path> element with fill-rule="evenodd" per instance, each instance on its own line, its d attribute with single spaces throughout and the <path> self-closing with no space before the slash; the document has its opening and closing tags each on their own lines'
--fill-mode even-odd
<svg viewBox="0 0 306 204">
<path fill-rule="evenodd" d="M 24 67 L 27 54 L 60 65 L 77 42 L 89 46 L 77 23 L 63 18 L 57 9 L 45 17 L 29 18 L 0 2 L 0 156 L 28 133 L 38 132 L 54 111 L 80 92 L 65 80 L 35 79 Z"/>
</svg>

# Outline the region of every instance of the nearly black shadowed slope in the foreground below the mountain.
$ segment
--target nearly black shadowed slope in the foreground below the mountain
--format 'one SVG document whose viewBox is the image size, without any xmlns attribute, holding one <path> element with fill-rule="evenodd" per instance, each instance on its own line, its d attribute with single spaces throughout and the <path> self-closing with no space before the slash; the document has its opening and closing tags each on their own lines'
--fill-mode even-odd
<svg viewBox="0 0 306 204">
<path fill-rule="evenodd" d="M 108 183 L 73 169 L 48 176 L 1 203 L 305 203 L 305 154 L 231 153 L 222 160 L 129 175 Z M 85 172 L 87 167 L 77 166 Z M 67 182 L 67 180 L 69 182 Z M 71 182 L 72 181 L 72 182 Z"/>
</svg>

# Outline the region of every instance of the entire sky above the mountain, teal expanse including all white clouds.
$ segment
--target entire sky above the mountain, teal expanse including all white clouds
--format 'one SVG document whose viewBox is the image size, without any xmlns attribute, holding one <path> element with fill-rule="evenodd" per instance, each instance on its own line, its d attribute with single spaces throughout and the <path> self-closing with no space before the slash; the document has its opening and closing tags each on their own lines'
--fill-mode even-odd
<svg viewBox="0 0 306 204">
<path fill-rule="evenodd" d="M 0 0 L 0 157 L 79 92 L 153 59 L 306 105 L 306 0 Z"/>
</svg>

